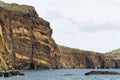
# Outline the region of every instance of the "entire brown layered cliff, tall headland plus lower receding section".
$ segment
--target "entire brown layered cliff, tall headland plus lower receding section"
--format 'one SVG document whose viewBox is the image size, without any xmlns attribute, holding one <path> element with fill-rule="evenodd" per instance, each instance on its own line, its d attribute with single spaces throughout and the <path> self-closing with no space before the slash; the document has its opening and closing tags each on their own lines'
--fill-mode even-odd
<svg viewBox="0 0 120 80">
<path fill-rule="evenodd" d="M 58 46 L 34 7 L 0 2 L 0 70 L 115 68 L 104 54 Z"/>
</svg>

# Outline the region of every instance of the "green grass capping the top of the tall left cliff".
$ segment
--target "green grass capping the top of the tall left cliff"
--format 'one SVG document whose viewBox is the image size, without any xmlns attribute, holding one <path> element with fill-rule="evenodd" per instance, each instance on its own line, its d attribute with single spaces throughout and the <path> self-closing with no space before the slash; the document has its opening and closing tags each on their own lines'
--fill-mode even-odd
<svg viewBox="0 0 120 80">
<path fill-rule="evenodd" d="M 34 7 L 32 6 L 26 6 L 26 5 L 18 5 L 16 3 L 8 4 L 4 2 L 0 2 L 0 7 L 5 8 L 7 10 L 22 12 L 22 13 L 29 13 L 31 10 L 34 10 Z"/>
</svg>

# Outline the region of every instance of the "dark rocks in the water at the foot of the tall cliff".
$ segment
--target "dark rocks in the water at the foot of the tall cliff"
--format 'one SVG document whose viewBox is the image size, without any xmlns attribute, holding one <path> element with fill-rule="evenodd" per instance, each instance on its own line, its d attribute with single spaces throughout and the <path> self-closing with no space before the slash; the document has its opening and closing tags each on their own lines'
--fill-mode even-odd
<svg viewBox="0 0 120 80">
<path fill-rule="evenodd" d="M 24 76 L 24 73 L 19 71 L 4 71 L 0 72 L 0 77 L 11 77 L 11 76 Z"/>
</svg>

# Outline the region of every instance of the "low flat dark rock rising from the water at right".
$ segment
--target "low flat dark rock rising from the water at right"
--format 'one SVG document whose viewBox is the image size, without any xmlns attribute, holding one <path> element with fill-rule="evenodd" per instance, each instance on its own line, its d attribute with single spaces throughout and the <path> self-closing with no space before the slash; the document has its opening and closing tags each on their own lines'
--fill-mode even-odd
<svg viewBox="0 0 120 80">
<path fill-rule="evenodd" d="M 85 75 L 120 75 L 120 73 L 114 71 L 90 71 Z"/>
</svg>

